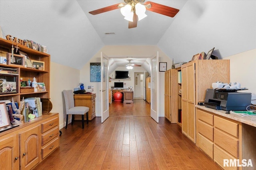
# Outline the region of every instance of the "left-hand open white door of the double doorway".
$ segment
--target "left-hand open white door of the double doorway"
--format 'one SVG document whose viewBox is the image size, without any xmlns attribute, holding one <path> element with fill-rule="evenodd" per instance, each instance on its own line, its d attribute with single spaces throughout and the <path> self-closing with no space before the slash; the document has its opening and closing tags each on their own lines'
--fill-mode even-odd
<svg viewBox="0 0 256 170">
<path fill-rule="evenodd" d="M 108 104 L 108 57 L 101 52 L 101 123 L 109 117 Z"/>
</svg>

